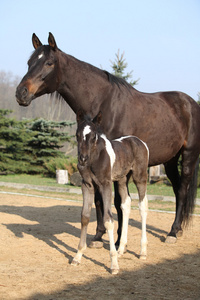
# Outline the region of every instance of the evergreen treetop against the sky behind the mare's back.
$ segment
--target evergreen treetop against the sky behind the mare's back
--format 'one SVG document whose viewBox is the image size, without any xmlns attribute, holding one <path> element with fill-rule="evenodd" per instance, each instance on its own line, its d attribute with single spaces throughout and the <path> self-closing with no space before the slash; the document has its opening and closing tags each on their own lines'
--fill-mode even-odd
<svg viewBox="0 0 200 300">
<path fill-rule="evenodd" d="M 115 54 L 115 61 L 110 61 L 112 63 L 111 67 L 113 69 L 112 74 L 123 78 L 124 80 L 126 80 L 128 82 L 128 80 L 130 80 L 132 78 L 132 73 L 133 71 L 124 74 L 125 69 L 127 68 L 128 64 L 126 62 L 126 59 L 124 58 L 124 52 L 120 55 L 120 51 L 118 50 L 118 52 Z M 139 78 L 137 80 L 134 81 L 129 81 L 129 84 L 134 86 L 138 83 Z"/>
</svg>

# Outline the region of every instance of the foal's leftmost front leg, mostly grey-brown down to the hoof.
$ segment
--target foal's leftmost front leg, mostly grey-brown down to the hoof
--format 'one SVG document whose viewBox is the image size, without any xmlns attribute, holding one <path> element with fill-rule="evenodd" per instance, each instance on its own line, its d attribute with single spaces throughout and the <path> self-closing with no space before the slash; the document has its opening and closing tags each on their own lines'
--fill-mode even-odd
<svg viewBox="0 0 200 300">
<path fill-rule="evenodd" d="M 90 184 L 82 184 L 83 208 L 81 212 L 81 237 L 78 245 L 78 251 L 72 260 L 72 265 L 77 266 L 81 263 L 84 250 L 87 248 L 86 237 L 87 227 L 90 220 L 91 208 L 94 200 L 94 186 Z"/>
</svg>

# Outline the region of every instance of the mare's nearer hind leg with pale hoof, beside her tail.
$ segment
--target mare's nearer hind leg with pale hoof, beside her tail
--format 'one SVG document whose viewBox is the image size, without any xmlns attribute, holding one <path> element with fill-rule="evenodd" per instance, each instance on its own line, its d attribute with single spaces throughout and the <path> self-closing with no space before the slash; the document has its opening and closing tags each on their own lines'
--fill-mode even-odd
<svg viewBox="0 0 200 300">
<path fill-rule="evenodd" d="M 189 220 L 190 213 L 193 211 L 196 192 L 196 174 L 194 174 L 194 170 L 198 156 L 197 151 L 193 153 L 192 149 L 183 150 L 180 183 L 178 191 L 174 189 L 176 194 L 176 216 L 167 236 L 167 243 L 176 242 L 177 235 L 181 231 L 181 224 Z"/>
</svg>

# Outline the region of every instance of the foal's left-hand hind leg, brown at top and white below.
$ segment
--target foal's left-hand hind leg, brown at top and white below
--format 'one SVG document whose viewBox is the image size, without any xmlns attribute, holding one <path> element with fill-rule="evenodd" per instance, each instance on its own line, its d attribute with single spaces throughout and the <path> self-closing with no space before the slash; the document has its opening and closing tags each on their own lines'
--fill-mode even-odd
<svg viewBox="0 0 200 300">
<path fill-rule="evenodd" d="M 118 182 L 119 193 L 122 199 L 121 209 L 122 209 L 122 233 L 120 244 L 118 248 L 118 256 L 122 256 L 126 251 L 127 246 L 127 236 L 128 236 L 128 222 L 129 222 L 129 215 L 131 210 L 131 197 L 128 193 L 127 188 L 127 177 L 124 177 Z"/>
</svg>

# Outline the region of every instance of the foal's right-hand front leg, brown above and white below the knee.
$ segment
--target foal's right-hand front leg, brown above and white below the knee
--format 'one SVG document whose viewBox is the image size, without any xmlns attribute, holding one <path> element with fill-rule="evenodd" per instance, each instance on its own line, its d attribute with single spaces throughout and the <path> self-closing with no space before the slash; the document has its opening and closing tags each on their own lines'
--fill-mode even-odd
<svg viewBox="0 0 200 300">
<path fill-rule="evenodd" d="M 101 188 L 104 204 L 104 225 L 108 232 L 110 242 L 111 273 L 119 272 L 118 254 L 114 242 L 114 222 L 112 217 L 112 182 L 107 183 Z"/>
</svg>

